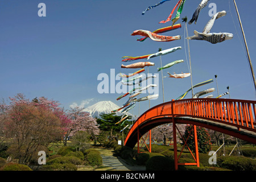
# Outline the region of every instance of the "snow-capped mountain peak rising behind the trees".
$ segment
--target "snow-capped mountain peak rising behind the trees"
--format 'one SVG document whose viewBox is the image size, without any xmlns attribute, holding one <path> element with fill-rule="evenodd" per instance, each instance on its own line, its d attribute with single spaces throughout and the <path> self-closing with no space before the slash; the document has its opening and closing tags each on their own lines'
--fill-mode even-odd
<svg viewBox="0 0 256 182">
<path fill-rule="evenodd" d="M 120 108 L 120 106 L 114 104 L 112 101 L 100 101 L 92 106 L 86 107 L 82 111 L 90 113 L 90 116 L 93 118 L 94 117 L 100 118 L 100 114 L 110 114 L 110 113 L 112 113 L 111 111 L 118 109 L 118 108 Z M 117 111 L 115 113 L 117 115 L 123 115 L 123 113 L 121 113 L 120 111 Z M 126 114 L 133 117 L 133 115 L 131 115 L 128 112 Z M 133 117 L 133 119 L 134 118 L 135 117 Z"/>
</svg>

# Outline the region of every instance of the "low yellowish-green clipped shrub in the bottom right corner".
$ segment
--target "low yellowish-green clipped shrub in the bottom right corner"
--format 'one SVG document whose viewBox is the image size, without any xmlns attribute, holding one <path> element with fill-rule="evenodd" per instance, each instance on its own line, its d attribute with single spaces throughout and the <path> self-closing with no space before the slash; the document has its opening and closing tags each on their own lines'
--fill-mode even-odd
<svg viewBox="0 0 256 182">
<path fill-rule="evenodd" d="M 243 156 L 221 156 L 217 166 L 233 171 L 256 171 L 256 161 Z"/>
</svg>

